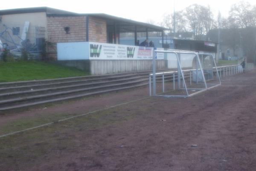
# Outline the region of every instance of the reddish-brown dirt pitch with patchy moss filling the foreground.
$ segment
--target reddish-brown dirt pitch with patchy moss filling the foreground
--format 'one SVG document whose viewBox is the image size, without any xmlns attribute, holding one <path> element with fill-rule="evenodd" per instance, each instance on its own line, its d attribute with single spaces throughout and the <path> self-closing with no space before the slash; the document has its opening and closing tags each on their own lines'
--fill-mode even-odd
<svg viewBox="0 0 256 171">
<path fill-rule="evenodd" d="M 147 88 L 0 115 L 0 135 L 147 96 Z M 11 125 L 11 126 L 10 126 Z M 253 171 L 256 70 L 0 138 L 1 171 Z"/>
</svg>

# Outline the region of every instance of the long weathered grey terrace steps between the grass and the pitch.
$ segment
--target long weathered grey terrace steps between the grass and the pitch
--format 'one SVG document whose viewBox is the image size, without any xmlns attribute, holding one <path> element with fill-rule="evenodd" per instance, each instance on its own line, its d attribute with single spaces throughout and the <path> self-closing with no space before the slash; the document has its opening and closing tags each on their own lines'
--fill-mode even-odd
<svg viewBox="0 0 256 171">
<path fill-rule="evenodd" d="M 0 111 L 148 85 L 148 72 L 0 83 Z"/>
</svg>

